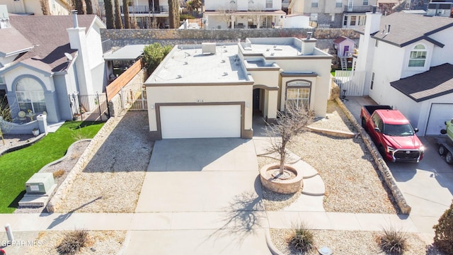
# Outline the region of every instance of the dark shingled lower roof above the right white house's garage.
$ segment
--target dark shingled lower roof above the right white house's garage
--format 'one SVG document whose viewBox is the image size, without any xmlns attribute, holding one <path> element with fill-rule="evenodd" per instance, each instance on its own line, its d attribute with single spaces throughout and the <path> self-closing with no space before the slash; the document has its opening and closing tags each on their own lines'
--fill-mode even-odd
<svg viewBox="0 0 453 255">
<path fill-rule="evenodd" d="M 392 81 L 390 86 L 415 102 L 453 93 L 453 64 L 431 67 L 427 72 Z"/>
</svg>

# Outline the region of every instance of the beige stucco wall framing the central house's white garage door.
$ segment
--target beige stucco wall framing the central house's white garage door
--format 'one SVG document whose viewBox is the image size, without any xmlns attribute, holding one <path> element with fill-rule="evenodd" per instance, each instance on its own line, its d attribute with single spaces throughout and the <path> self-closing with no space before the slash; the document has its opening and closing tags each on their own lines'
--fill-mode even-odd
<svg viewBox="0 0 453 255">
<path fill-rule="evenodd" d="M 245 102 L 244 129 L 251 130 L 253 115 L 252 85 L 147 86 L 149 131 L 157 130 L 155 103 Z M 247 107 L 248 105 L 248 107 Z"/>
</svg>

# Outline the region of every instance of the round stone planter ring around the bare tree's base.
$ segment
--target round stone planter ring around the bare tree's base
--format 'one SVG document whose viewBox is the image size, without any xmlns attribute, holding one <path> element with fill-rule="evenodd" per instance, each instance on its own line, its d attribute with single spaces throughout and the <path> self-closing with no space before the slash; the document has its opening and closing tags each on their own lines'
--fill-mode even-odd
<svg viewBox="0 0 453 255">
<path fill-rule="evenodd" d="M 268 164 L 260 169 L 260 180 L 265 188 L 282 194 L 296 193 L 304 186 L 302 172 L 285 165 L 285 174 L 280 176 L 280 165 Z"/>
</svg>

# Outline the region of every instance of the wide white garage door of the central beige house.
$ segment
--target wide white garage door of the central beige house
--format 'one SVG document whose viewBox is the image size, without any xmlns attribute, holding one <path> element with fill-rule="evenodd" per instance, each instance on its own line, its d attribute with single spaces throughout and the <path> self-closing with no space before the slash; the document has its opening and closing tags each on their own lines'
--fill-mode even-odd
<svg viewBox="0 0 453 255">
<path fill-rule="evenodd" d="M 161 106 L 162 139 L 241 137 L 241 106 Z"/>
</svg>

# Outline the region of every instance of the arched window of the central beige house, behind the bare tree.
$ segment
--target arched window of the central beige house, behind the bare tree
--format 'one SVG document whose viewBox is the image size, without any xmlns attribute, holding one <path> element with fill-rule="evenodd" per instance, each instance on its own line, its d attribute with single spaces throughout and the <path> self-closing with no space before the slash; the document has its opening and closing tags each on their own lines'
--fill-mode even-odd
<svg viewBox="0 0 453 255">
<path fill-rule="evenodd" d="M 287 83 L 287 106 L 309 107 L 311 84 L 306 81 L 290 81 Z"/>
</svg>

